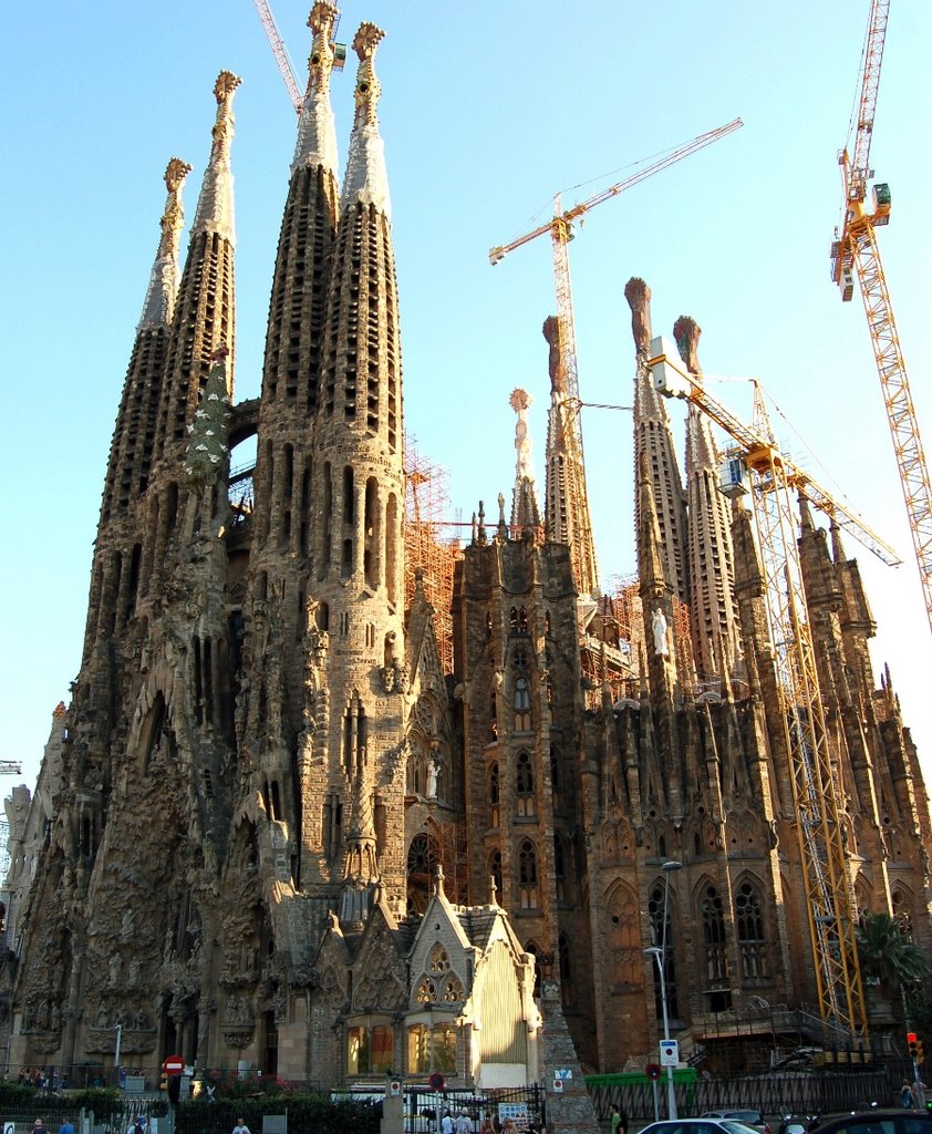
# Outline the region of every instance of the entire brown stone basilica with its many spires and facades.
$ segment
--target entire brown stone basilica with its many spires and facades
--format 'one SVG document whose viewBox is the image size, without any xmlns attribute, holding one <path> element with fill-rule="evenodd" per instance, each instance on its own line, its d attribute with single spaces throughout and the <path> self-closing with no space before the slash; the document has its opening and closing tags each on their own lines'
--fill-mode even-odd
<svg viewBox="0 0 932 1134">
<path fill-rule="evenodd" d="M 632 279 L 618 299 L 636 581 L 600 589 L 553 320 L 541 499 L 529 395 L 503 388 L 510 499 L 480 508 L 455 547 L 424 536 L 382 32 L 364 23 L 353 43 L 340 179 L 336 15 L 317 0 L 308 22 L 257 398 L 234 399 L 236 76 L 214 87 L 184 260 L 188 167 L 168 164 L 79 672 L 35 793 L 7 805 L 10 1063 L 109 1066 L 119 1035 L 141 1067 L 177 1052 L 332 1086 L 387 1070 L 527 1083 L 542 982 L 587 1069 L 654 1057 L 664 1007 L 684 1059 L 729 1044 L 749 1058 L 827 1005 L 856 1046 L 870 997 L 851 926 L 887 913 L 932 949 L 932 830 L 840 530 L 797 505 L 819 683 L 800 708 L 747 500 L 718 490 L 695 406 L 680 472 L 649 366 L 650 289 Z M 675 335 L 700 374 L 697 325 Z M 231 473 L 249 439 L 254 465 Z M 814 716 L 819 751 L 797 743 Z M 831 804 L 815 830 L 814 785 Z"/>
</svg>

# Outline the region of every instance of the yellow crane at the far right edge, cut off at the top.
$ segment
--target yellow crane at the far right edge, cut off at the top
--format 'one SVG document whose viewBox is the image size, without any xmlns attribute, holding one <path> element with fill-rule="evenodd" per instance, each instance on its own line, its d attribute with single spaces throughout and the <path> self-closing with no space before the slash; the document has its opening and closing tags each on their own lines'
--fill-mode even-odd
<svg viewBox="0 0 932 1134">
<path fill-rule="evenodd" d="M 889 185 L 883 183 L 874 185 L 872 212 L 867 211 L 865 204 L 867 181 L 873 177 L 869 158 L 889 11 L 890 0 L 872 0 L 862 64 L 854 149 L 849 154 L 846 147 L 838 155 L 845 201 L 841 225 L 836 229 L 836 239 L 831 246 L 831 273 L 841 289 L 841 298 L 845 302 L 854 294 L 851 269 L 857 273 L 861 284 L 867 328 L 871 332 L 887 421 L 893 439 L 893 451 L 920 568 L 925 612 L 932 628 L 932 485 L 874 232 L 875 228 L 887 225 L 890 220 Z"/>
</svg>

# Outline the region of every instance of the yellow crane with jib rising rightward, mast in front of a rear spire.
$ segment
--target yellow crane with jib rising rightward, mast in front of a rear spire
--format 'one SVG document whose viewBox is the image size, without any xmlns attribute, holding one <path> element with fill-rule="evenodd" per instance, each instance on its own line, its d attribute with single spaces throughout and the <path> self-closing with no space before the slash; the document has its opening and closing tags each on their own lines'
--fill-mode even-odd
<svg viewBox="0 0 932 1134">
<path fill-rule="evenodd" d="M 688 158 L 698 150 L 718 142 L 719 138 L 731 134 L 744 125 L 740 118 L 735 118 L 725 126 L 719 126 L 714 130 L 700 134 L 698 137 L 687 142 L 675 150 L 669 151 L 658 161 L 645 166 L 643 169 L 618 181 L 616 185 L 601 193 L 596 193 L 587 201 L 573 205 L 571 209 L 562 209 L 560 194 L 553 198 L 553 218 L 545 225 L 537 228 L 508 244 L 497 245 L 489 249 L 489 260 L 494 265 L 499 263 L 509 252 L 520 248 L 523 245 L 550 234 L 551 253 L 553 259 L 553 281 L 557 290 L 557 333 L 558 350 L 560 361 L 560 373 L 562 375 L 562 389 L 557 395 L 557 404 L 553 406 L 557 417 L 556 426 L 559 431 L 559 442 L 566 456 L 566 467 L 564 469 L 564 483 L 568 490 L 567 506 L 573 514 L 568 524 L 570 558 L 573 562 L 573 575 L 579 586 L 581 593 L 590 593 L 596 590 L 595 582 L 595 551 L 592 541 L 592 527 L 587 515 L 584 516 L 585 500 L 583 496 L 584 464 L 583 464 L 583 431 L 579 423 L 579 378 L 576 361 L 576 324 L 573 314 L 573 288 L 569 274 L 569 242 L 573 239 L 573 225 L 585 213 L 590 212 L 603 201 L 618 196 L 625 189 L 659 174 L 662 169 Z M 553 517 L 548 519 L 552 523 Z"/>
</svg>

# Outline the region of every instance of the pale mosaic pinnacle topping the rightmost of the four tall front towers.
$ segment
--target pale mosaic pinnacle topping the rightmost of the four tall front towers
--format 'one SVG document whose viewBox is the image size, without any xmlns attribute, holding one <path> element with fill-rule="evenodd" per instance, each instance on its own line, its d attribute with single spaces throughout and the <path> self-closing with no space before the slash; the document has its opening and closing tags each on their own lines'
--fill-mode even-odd
<svg viewBox="0 0 932 1134">
<path fill-rule="evenodd" d="M 385 215 L 391 213 L 384 144 L 379 135 L 376 107 L 382 87 L 375 75 L 375 49 L 384 32 L 374 24 L 361 24 L 353 41 L 359 57 L 356 74 L 356 118 L 349 137 L 341 208 L 361 202 L 373 204 Z"/>
</svg>

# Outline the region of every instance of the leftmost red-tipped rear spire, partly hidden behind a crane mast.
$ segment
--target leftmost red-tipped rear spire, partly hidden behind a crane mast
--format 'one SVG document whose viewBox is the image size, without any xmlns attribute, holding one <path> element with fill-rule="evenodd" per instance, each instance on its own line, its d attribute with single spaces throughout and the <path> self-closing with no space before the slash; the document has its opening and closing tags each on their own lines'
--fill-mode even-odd
<svg viewBox="0 0 932 1134">
<path fill-rule="evenodd" d="M 567 397 L 567 376 L 560 356 L 560 322 L 544 320 L 543 337 L 550 346 L 550 412 L 547 425 L 547 538 L 565 543 L 573 562 L 573 578 L 581 599 L 599 594 L 599 569 L 586 492 L 579 407 Z"/>
</svg>

